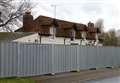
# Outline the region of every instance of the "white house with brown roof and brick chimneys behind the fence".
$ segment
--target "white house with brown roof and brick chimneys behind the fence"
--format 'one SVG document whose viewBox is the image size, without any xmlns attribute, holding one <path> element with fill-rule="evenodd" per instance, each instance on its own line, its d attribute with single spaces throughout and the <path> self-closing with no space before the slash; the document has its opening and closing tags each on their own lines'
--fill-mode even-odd
<svg viewBox="0 0 120 83">
<path fill-rule="evenodd" d="M 21 43 L 65 44 L 65 45 L 101 45 L 100 31 L 89 22 L 88 25 L 39 16 L 35 20 L 30 12 L 23 16 L 23 27 L 16 32 L 34 32 L 34 34 L 13 40 Z"/>
</svg>

